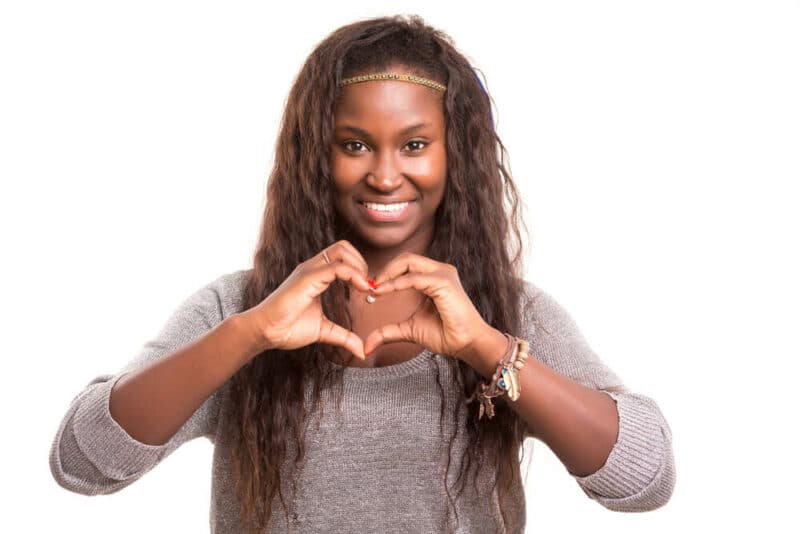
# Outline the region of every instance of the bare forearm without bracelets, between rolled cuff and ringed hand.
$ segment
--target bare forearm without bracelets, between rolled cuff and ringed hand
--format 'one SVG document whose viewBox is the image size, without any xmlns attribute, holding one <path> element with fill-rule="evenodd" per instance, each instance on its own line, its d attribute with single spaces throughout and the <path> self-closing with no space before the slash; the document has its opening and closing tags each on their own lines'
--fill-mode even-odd
<svg viewBox="0 0 800 534">
<path fill-rule="evenodd" d="M 163 445 L 263 350 L 246 318 L 232 315 L 168 356 L 120 378 L 111 391 L 111 416 L 138 441 Z"/>
</svg>

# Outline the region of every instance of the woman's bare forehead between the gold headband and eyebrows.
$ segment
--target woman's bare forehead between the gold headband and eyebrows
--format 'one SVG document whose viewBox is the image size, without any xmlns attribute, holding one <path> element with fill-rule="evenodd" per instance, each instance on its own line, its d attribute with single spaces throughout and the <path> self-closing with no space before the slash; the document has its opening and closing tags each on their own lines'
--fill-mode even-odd
<svg viewBox="0 0 800 534">
<path fill-rule="evenodd" d="M 371 80 L 342 88 L 334 111 L 336 122 L 402 121 L 425 118 L 444 124 L 443 93 L 417 83 Z"/>
</svg>

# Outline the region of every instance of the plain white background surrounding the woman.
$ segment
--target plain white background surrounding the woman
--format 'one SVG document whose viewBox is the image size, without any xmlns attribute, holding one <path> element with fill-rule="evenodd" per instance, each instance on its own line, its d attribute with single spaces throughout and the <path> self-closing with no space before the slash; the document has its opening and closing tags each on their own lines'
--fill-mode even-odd
<svg viewBox="0 0 800 534">
<path fill-rule="evenodd" d="M 536 442 L 528 532 L 791 530 L 800 2 L 697 0 L 3 3 L 3 530 L 207 531 L 209 442 L 85 497 L 52 479 L 51 440 L 91 378 L 250 266 L 294 76 L 335 28 L 395 13 L 484 73 L 528 278 L 673 431 L 675 492 L 644 514 Z"/>
</svg>

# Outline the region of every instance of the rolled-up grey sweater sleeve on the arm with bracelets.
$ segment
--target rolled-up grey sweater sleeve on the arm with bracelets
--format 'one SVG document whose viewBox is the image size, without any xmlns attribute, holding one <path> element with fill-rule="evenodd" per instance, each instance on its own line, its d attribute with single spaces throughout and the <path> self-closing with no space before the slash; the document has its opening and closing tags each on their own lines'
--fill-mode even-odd
<svg viewBox="0 0 800 534">
<path fill-rule="evenodd" d="M 538 360 L 579 384 L 603 391 L 617 405 L 619 433 L 606 463 L 586 476 L 571 475 L 609 510 L 646 512 L 669 501 L 675 486 L 672 432 L 656 402 L 632 392 L 592 350 L 575 320 L 530 282 L 525 339 Z M 526 437 L 532 437 L 530 430 Z"/>
</svg>

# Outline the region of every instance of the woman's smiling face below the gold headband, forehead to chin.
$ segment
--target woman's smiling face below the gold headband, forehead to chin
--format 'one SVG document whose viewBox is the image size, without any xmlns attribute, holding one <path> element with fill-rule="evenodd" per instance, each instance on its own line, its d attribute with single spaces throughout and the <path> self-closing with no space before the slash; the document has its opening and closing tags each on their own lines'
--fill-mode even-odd
<svg viewBox="0 0 800 534">
<path fill-rule="evenodd" d="M 336 209 L 362 246 L 427 249 L 446 181 L 442 97 L 395 80 L 342 88 L 331 149 Z"/>
</svg>

